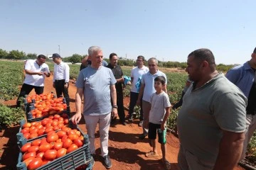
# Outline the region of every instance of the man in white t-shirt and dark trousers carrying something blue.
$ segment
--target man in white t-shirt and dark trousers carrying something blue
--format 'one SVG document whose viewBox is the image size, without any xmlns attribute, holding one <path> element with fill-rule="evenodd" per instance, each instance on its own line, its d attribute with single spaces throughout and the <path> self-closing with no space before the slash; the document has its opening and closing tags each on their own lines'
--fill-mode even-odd
<svg viewBox="0 0 256 170">
<path fill-rule="evenodd" d="M 132 89 L 130 91 L 130 103 L 129 103 L 129 122 L 132 122 L 132 114 L 134 113 L 134 106 L 136 105 L 138 96 L 139 96 L 139 87 L 142 80 L 142 75 L 146 72 L 149 72 L 149 68 L 144 66 L 145 58 L 142 55 L 137 57 L 137 67 L 134 67 L 131 71 L 131 83 Z M 142 102 L 141 110 L 139 116 L 139 126 L 142 126 L 143 123 L 143 111 L 142 111 Z"/>
</svg>

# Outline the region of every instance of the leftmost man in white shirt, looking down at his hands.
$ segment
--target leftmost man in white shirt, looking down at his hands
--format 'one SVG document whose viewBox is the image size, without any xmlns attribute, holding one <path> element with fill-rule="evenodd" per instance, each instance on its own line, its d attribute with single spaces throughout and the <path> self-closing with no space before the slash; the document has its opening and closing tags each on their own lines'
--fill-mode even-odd
<svg viewBox="0 0 256 170">
<path fill-rule="evenodd" d="M 38 55 L 36 60 L 27 60 L 25 64 L 25 80 L 18 95 L 17 106 L 20 106 L 20 98 L 28 95 L 33 89 L 36 94 L 43 94 L 44 80 L 50 77 L 50 70 L 46 62 L 46 56 Z"/>
</svg>

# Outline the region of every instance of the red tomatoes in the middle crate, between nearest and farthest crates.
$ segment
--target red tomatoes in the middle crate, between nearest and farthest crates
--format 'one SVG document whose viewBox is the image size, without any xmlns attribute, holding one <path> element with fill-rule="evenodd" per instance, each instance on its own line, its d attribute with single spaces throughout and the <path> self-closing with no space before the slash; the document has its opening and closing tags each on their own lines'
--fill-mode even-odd
<svg viewBox="0 0 256 170">
<path fill-rule="evenodd" d="M 68 126 L 68 115 L 63 113 L 62 115 L 50 115 L 48 118 L 44 118 L 38 122 L 24 123 L 21 129 L 23 137 L 27 140 L 35 137 L 47 134 L 48 132 L 60 130 L 61 128 Z"/>
</svg>

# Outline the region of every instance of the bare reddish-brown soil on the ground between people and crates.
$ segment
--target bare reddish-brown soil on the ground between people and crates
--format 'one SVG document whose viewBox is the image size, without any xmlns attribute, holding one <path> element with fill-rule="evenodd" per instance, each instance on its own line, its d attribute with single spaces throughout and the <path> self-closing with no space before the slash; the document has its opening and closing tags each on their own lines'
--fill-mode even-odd
<svg viewBox="0 0 256 170">
<path fill-rule="evenodd" d="M 45 93 L 54 91 L 53 89 L 53 76 L 46 79 L 46 86 L 44 89 Z M 70 110 L 72 114 L 75 113 L 75 84 L 70 83 L 69 94 L 70 94 Z M 31 92 L 34 93 L 34 92 Z M 6 104 L 14 105 L 16 101 L 8 101 Z M 129 98 L 125 98 L 124 105 L 129 105 Z M 125 112 L 128 114 L 127 111 Z M 118 121 L 117 121 L 118 122 Z M 85 121 L 80 122 L 79 127 L 85 130 Z M 1 164 L 0 169 L 16 169 L 18 159 L 18 147 L 16 145 L 16 133 L 18 132 L 18 126 L 3 130 L 0 132 L 0 156 Z M 142 128 L 138 126 L 138 120 L 134 120 L 133 123 L 128 123 L 126 126 L 116 124 L 110 127 L 110 140 L 109 140 L 109 154 L 112 160 L 113 170 L 122 169 L 151 169 L 151 170 L 162 170 L 162 166 L 159 159 L 161 156 L 156 158 L 146 158 L 145 153 L 151 150 L 148 140 L 139 140 L 139 135 L 142 133 Z M 95 147 L 97 148 L 96 154 L 100 154 L 100 139 L 99 132 L 97 130 L 95 135 Z M 178 170 L 177 155 L 178 155 L 179 142 L 174 135 L 168 133 L 167 135 L 167 159 L 171 162 L 171 169 Z M 160 145 L 157 143 L 157 149 L 161 153 Z M 95 166 L 93 169 L 105 169 L 102 165 L 102 159 L 100 156 L 96 156 Z M 236 167 L 235 170 L 242 169 L 240 166 Z"/>
</svg>

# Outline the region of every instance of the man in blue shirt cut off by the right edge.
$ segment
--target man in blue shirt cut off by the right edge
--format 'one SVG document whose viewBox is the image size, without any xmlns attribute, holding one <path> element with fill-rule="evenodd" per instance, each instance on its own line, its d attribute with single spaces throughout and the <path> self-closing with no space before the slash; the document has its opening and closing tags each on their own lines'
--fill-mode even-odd
<svg viewBox="0 0 256 170">
<path fill-rule="evenodd" d="M 245 159 L 247 145 L 256 129 L 256 47 L 251 59 L 245 64 L 230 69 L 226 77 L 247 97 L 245 142 L 240 161 Z"/>
</svg>

